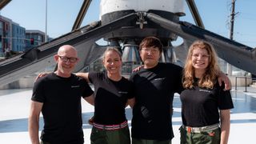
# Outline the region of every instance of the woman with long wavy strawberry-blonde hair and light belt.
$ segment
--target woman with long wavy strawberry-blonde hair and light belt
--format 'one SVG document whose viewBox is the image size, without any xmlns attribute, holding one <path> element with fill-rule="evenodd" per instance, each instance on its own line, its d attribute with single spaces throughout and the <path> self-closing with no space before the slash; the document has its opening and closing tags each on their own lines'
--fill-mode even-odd
<svg viewBox="0 0 256 144">
<path fill-rule="evenodd" d="M 218 85 L 217 55 L 202 40 L 190 46 L 182 78 L 181 143 L 226 144 L 230 133 L 230 90 Z"/>
</svg>

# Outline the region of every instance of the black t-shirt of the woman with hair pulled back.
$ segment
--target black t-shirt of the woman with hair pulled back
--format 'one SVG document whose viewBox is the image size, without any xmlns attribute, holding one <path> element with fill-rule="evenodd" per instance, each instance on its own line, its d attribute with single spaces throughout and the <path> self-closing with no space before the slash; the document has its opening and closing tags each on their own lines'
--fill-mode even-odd
<svg viewBox="0 0 256 144">
<path fill-rule="evenodd" d="M 103 125 L 114 125 L 126 121 L 126 102 L 131 95 L 132 82 L 123 78 L 114 82 L 106 72 L 89 73 L 90 82 L 94 84 L 94 122 Z"/>
</svg>

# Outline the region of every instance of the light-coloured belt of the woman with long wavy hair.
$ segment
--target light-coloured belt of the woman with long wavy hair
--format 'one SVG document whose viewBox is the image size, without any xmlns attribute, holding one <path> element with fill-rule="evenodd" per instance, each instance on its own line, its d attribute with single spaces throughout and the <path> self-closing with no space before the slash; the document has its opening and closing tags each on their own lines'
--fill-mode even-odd
<svg viewBox="0 0 256 144">
<path fill-rule="evenodd" d="M 201 133 L 204 131 L 209 131 L 209 130 L 216 130 L 218 129 L 218 123 L 210 126 L 202 126 L 202 127 L 190 127 L 190 126 L 184 126 L 182 127 L 188 132 L 188 133 Z"/>
</svg>

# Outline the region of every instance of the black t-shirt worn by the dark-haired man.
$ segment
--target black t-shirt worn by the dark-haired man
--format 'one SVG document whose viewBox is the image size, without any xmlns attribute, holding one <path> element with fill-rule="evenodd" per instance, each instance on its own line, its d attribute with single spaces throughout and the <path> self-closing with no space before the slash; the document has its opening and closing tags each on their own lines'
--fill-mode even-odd
<svg viewBox="0 0 256 144">
<path fill-rule="evenodd" d="M 171 112 L 174 93 L 182 91 L 182 67 L 158 63 L 130 76 L 136 103 L 133 109 L 133 138 L 168 140 L 174 137 Z"/>
</svg>

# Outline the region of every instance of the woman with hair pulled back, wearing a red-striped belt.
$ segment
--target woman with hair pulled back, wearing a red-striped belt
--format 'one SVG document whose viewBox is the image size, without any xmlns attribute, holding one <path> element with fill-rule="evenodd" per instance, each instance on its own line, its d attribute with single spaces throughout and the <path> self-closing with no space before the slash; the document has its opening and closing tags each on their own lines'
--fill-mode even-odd
<svg viewBox="0 0 256 144">
<path fill-rule="evenodd" d="M 94 84 L 92 144 L 130 144 L 126 103 L 134 106 L 132 82 L 121 75 L 122 57 L 118 49 L 108 47 L 102 58 L 105 72 L 77 73 Z"/>
</svg>

